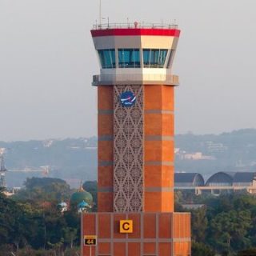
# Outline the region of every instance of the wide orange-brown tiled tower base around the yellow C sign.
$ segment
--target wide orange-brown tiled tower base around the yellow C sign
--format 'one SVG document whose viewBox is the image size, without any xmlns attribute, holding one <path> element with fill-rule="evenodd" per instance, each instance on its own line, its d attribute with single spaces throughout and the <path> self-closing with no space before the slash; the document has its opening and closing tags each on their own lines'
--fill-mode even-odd
<svg viewBox="0 0 256 256">
<path fill-rule="evenodd" d="M 133 221 L 133 233 L 120 233 L 121 220 Z M 82 238 L 96 236 L 96 246 L 82 241 L 83 256 L 190 255 L 188 213 L 82 214 Z"/>
</svg>

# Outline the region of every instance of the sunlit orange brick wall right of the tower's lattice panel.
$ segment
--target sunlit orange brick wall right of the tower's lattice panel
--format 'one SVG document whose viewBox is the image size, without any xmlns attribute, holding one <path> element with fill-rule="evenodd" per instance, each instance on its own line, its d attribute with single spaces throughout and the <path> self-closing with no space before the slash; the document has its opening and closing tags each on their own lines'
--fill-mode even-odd
<svg viewBox="0 0 256 256">
<path fill-rule="evenodd" d="M 173 86 L 144 86 L 144 117 L 144 210 L 146 212 L 173 212 Z"/>
</svg>

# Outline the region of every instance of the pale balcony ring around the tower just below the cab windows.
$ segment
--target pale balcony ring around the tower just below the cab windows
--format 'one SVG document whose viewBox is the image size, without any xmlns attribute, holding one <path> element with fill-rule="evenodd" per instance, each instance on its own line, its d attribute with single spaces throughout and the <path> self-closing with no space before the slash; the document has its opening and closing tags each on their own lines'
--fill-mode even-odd
<svg viewBox="0 0 256 256">
<path fill-rule="evenodd" d="M 170 74 L 99 74 L 93 76 L 92 86 L 110 85 L 167 85 L 178 86 L 178 75 Z"/>
</svg>

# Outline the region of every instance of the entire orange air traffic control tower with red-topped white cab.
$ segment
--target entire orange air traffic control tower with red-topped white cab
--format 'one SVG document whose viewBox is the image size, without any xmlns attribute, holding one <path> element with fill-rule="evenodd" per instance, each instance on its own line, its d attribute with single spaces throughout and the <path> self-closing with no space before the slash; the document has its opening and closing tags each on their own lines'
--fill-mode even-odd
<svg viewBox="0 0 256 256">
<path fill-rule="evenodd" d="M 174 213 L 177 26 L 95 26 L 98 212 L 82 214 L 83 256 L 188 256 L 190 214 Z"/>
</svg>

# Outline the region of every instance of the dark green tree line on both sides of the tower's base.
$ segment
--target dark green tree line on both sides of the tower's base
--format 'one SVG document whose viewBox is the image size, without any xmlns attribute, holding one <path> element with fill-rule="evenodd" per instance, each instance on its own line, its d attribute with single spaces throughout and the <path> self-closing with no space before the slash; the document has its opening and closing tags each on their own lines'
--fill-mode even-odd
<svg viewBox="0 0 256 256">
<path fill-rule="evenodd" d="M 97 182 L 86 182 L 94 202 Z M 0 190 L 0 256 L 78 256 L 80 216 L 76 206 L 66 212 L 74 190 L 58 178 L 28 178 L 22 190 L 7 198 Z M 198 208 L 187 210 L 188 202 Z M 97 204 L 94 205 L 97 210 Z M 193 256 L 256 255 L 256 196 L 246 192 L 196 196 L 177 191 L 175 210 L 190 211 Z M 13 254 L 11 254 L 13 253 Z"/>
</svg>

